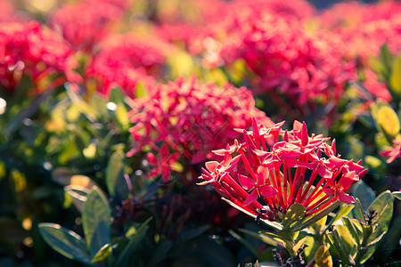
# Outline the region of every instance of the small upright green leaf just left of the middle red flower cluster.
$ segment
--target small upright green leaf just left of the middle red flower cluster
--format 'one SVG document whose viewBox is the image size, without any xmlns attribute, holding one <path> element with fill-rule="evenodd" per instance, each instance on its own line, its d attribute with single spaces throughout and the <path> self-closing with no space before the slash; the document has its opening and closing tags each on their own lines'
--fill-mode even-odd
<svg viewBox="0 0 401 267">
<path fill-rule="evenodd" d="M 106 185 L 110 196 L 118 195 L 121 199 L 127 199 L 129 195 L 127 181 L 124 178 L 125 158 L 123 151 L 115 151 L 106 168 Z"/>
</svg>

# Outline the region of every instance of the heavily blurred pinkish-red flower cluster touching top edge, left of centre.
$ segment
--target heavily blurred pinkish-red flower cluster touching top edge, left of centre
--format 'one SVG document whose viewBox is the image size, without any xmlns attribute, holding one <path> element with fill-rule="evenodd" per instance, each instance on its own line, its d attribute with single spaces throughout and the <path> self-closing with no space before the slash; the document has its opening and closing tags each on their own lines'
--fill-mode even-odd
<svg viewBox="0 0 401 267">
<path fill-rule="evenodd" d="M 110 25 L 122 19 L 126 2 L 86 0 L 64 4 L 53 12 L 50 26 L 60 31 L 74 50 L 90 52 L 110 33 Z"/>
</svg>

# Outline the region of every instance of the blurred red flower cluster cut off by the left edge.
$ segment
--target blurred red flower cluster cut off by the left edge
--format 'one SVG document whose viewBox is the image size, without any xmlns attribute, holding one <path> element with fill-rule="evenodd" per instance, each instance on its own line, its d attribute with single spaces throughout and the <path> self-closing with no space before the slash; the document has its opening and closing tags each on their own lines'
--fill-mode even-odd
<svg viewBox="0 0 401 267">
<path fill-rule="evenodd" d="M 0 23 L 0 84 L 12 92 L 23 75 L 29 75 L 37 90 L 65 69 L 70 46 L 57 33 L 36 21 Z M 43 87 L 43 88 L 42 88 Z"/>
</svg>

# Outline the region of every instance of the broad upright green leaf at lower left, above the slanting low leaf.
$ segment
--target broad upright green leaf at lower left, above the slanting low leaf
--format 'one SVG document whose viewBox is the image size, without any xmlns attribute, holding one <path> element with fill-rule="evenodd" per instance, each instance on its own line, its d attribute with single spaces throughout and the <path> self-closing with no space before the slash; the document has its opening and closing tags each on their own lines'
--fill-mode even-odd
<svg viewBox="0 0 401 267">
<path fill-rule="evenodd" d="M 92 255 L 110 243 L 110 217 L 111 211 L 107 198 L 97 186 L 94 186 L 87 195 L 82 213 L 87 247 Z"/>
</svg>

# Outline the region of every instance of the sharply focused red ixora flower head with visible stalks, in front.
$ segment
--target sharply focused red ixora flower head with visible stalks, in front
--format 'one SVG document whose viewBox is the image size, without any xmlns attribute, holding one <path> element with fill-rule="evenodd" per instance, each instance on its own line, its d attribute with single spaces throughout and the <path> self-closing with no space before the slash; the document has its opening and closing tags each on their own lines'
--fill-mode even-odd
<svg viewBox="0 0 401 267">
<path fill-rule="evenodd" d="M 291 131 L 282 125 L 254 119 L 252 131 L 241 130 L 245 142 L 214 151 L 225 159 L 207 162 L 199 184 L 210 184 L 236 206 L 270 221 L 295 203 L 305 206 L 306 216 L 354 203 L 346 191 L 366 174 L 361 162 L 340 158 L 335 141 L 329 145 L 322 134 L 309 136 L 305 123 L 295 121 Z"/>
</svg>

